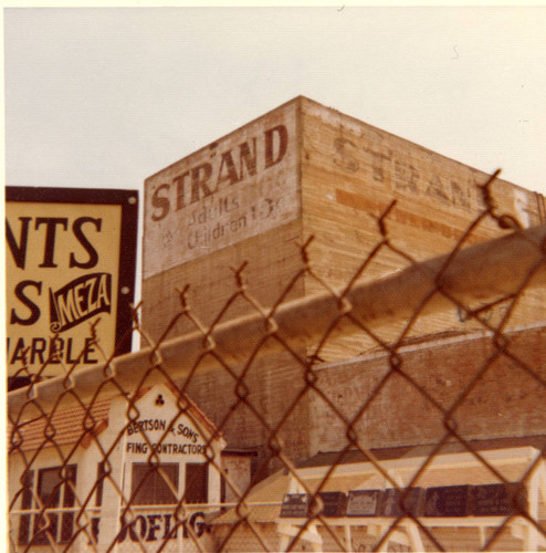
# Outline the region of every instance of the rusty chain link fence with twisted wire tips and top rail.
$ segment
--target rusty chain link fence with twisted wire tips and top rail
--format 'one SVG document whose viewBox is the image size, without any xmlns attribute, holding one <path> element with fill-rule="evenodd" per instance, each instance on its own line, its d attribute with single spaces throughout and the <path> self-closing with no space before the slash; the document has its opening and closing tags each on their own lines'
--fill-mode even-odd
<svg viewBox="0 0 546 553">
<path fill-rule="evenodd" d="M 537 438 L 532 448 L 501 449 L 504 453 L 496 449 L 497 452 L 492 453 L 482 447 L 483 436 L 480 442 L 468 431 L 473 424 L 475 392 L 493 386 L 491 395 L 501 394 L 497 376 L 501 366 L 501 371 L 508 367 L 517 373 L 506 382 L 521 383 L 519 389 L 515 386 L 508 392 L 533 394 L 527 400 L 522 399 L 525 420 L 538 420 L 536 425 L 546 434 L 546 403 L 540 403 L 540 398 L 546 397 L 544 326 L 531 323 L 526 326 L 526 321 L 518 321 L 519 332 L 513 330 L 514 313 L 526 294 L 544 290 L 546 230 L 544 227 L 521 229 L 516 219 L 497 212 L 490 194 L 494 177 L 483 187 L 485 209 L 453 250 L 441 259 L 418 263 L 411 252 L 395 246 L 388 230 L 391 206 L 377 221 L 376 247 L 363 253 L 360 268 L 342 291 L 333 290 L 315 270 L 309 238 L 301 246 L 301 271 L 279 298 L 272 299 L 270 306 L 262 305 L 253 295 L 243 264 L 231 269 L 235 292 L 211 324 L 203 323 L 196 314 L 186 286 L 174 293 L 180 309 L 176 317 L 166 321 L 159 340 L 153 340 L 141 326 L 139 306 L 135 306 L 132 334 L 139 336 L 140 352 L 116 357 L 103 351 L 95 334 L 99 322 L 94 322 L 90 326 L 88 345 L 101 351 L 104 361 L 91 371 L 78 371 L 77 363 L 70 366 L 61 363 L 63 376 L 40 382 L 40 374 L 49 364 L 60 363 L 55 352 L 38 374 L 30 374 L 23 363 L 18 376 L 30 377 L 32 384 L 9 394 L 10 549 L 546 550 L 546 440 Z M 500 238 L 466 248 L 468 238 L 484 220 L 497 222 Z M 384 250 L 400 257 L 408 268 L 378 282 L 360 284 L 368 267 Z M 314 279 L 324 293 L 286 302 L 291 290 L 303 278 Z M 535 301 L 540 301 L 540 296 Z M 251 313 L 229 320 L 229 310 L 235 302 L 244 302 Z M 495 306 L 502 306 L 501 316 L 491 317 Z M 427 365 L 424 361 L 417 372 L 408 361 L 411 330 L 430 310 L 448 309 L 458 310 L 465 320 L 475 323 L 473 336 L 479 333 L 482 344 L 480 348 L 476 345 L 475 362 L 458 359 L 455 354 L 448 363 L 450 346 L 445 345 L 447 369 Z M 180 321 L 189 324 L 192 332 L 172 336 Z M 388 326 L 391 321 L 397 321 L 397 328 L 401 330 L 386 340 L 377 328 Z M 385 359 L 385 367 L 370 377 L 367 393 L 355 393 L 349 403 L 330 394 L 322 361 L 325 347 L 346 333 L 366 336 L 374 344 L 372 354 Z M 535 342 L 531 345 L 526 342 L 527 348 L 522 354 L 517 341 L 525 333 Z M 126 340 L 132 340 L 132 335 Z M 421 344 L 421 351 L 427 352 L 426 344 Z M 256 400 L 250 383 L 262 359 L 279 352 L 296 369 L 292 373 L 292 395 L 283 398 L 282 413 L 270 417 Z M 456 386 L 452 382 L 458 376 L 450 374 L 449 368 L 453 363 L 465 365 L 466 371 Z M 364 371 L 361 365 L 349 367 L 351 372 L 347 368 L 347 374 Z M 438 393 L 423 378 L 435 372 L 438 378 L 440 374 L 445 378 L 442 383 L 447 387 L 442 389 L 451 387 L 449 393 Z M 203 380 L 202 375 L 209 379 Z M 196 405 L 190 399 L 203 382 L 209 385 L 218 382 L 222 394 L 230 397 L 228 410 L 210 413 L 207 408 L 203 416 L 199 401 Z M 433 418 L 437 430 L 440 429 L 433 442 L 426 442 L 426 447 L 409 456 L 403 453 L 408 448 L 392 447 L 392 439 L 396 441 L 397 432 L 403 434 L 403 425 L 419 426 L 419 420 L 403 420 L 402 415 L 398 427 L 392 428 L 386 417 L 385 432 L 395 436 L 389 450 L 381 449 L 377 440 L 370 441 L 367 436 L 378 424 L 374 409 L 384 401 L 393 383 L 402 394 L 387 413 L 406 413 L 406 401 L 420 405 L 423 418 Z M 159 428 L 159 439 L 148 431 L 151 427 L 143 426 L 139 403 L 157 384 L 167 386 L 161 389 L 172 390 L 175 397 L 175 408 L 169 411 L 166 427 Z M 302 462 L 297 448 L 286 441 L 286 436 L 295 436 L 293 442 L 297 442 L 297 437 L 308 431 L 298 409 L 309 397 L 315 406 L 327 411 L 330 425 L 343 428 L 344 434 L 343 447 L 325 455 L 322 463 Z M 157 406 L 165 400 L 161 394 L 154 399 Z M 117 427 L 112 420 L 114 411 L 109 410 L 114 401 L 120 406 L 115 411 L 119 418 Z M 482 408 L 490 409 L 487 405 Z M 306 413 L 313 417 L 316 409 Z M 493 420 L 497 414 L 491 411 L 489 416 Z M 227 469 L 218 446 L 222 436 L 229 445 L 229 437 L 233 435 L 230 425 L 241 418 L 249 428 L 260 428 L 260 435 L 265 436 L 259 455 L 248 458 L 253 465 L 252 481 L 241 481 Z M 167 456 L 161 455 L 169 452 L 168 448 L 176 448 L 170 445 L 172 428 L 178 425 L 183 428 L 185 420 L 206 437 L 198 453 L 206 461 L 204 481 L 218 493 L 203 493 L 200 484 L 203 472 L 199 467 L 192 469 L 193 480 L 189 469 L 185 472 L 182 486 L 171 457 L 166 461 Z M 494 438 L 500 434 L 493 426 L 491 437 Z M 108 435 L 109 427 L 118 430 Z M 507 429 L 506 435 L 524 437 L 527 430 L 539 434 L 519 428 Z M 127 451 L 126 436 L 133 431 L 140 436 L 147 453 L 141 456 L 141 462 L 133 463 L 130 480 L 125 469 L 128 461 L 119 458 L 119 450 Z M 88 451 L 94 452 L 92 457 L 98 462 L 85 460 Z M 316 452 L 315 448 L 312 453 Z M 469 477 L 471 473 L 474 476 Z M 480 474 L 477 479 L 475 474 Z M 357 486 L 359 480 L 368 483 L 363 488 Z M 503 503 L 505 510 L 482 518 L 460 513 L 442 518 L 427 515 L 411 502 L 414 490 L 421 490 L 422 495 L 422 490 L 435 484 L 444 490 L 458 487 L 452 491 L 459 493 L 472 483 L 502 484 L 503 497 L 507 498 Z M 342 489 L 346 494 L 354 489 L 389 491 L 396 498 L 396 509 L 374 517 L 368 513 L 351 518 L 347 512 L 332 517 L 327 511 L 328 501 L 338 498 L 332 493 Z M 304 501 L 303 515 L 300 512 L 288 517 L 286 511 L 283 514 L 283 501 L 286 502 L 287 497 Z"/>
</svg>

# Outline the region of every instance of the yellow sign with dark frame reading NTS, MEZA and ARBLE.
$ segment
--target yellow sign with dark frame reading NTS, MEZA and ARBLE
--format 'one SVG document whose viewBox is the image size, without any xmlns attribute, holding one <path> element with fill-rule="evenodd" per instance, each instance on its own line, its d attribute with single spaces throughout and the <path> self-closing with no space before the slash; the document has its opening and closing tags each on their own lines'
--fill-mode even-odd
<svg viewBox="0 0 546 553">
<path fill-rule="evenodd" d="M 8 375 L 130 351 L 138 192 L 7 187 Z M 96 333 L 93 337 L 92 327 Z"/>
</svg>

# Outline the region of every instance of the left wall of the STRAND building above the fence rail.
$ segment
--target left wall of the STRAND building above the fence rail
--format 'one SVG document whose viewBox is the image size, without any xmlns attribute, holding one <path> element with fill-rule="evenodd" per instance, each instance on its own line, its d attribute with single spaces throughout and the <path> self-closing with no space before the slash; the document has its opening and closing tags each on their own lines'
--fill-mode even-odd
<svg viewBox="0 0 546 553">
<path fill-rule="evenodd" d="M 245 125 L 145 182 L 143 325 L 157 340 L 190 284 L 196 314 L 211 324 L 237 291 L 270 305 L 301 269 L 298 102 Z M 296 283 L 288 298 L 303 294 Z M 251 310 L 238 302 L 224 315 Z M 172 333 L 186 330 L 178 325 Z"/>
</svg>

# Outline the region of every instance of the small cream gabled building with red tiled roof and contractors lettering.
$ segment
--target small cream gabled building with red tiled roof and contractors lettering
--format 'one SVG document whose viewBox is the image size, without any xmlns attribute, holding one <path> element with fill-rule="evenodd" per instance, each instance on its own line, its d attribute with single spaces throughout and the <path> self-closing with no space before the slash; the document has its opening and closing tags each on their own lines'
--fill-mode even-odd
<svg viewBox="0 0 546 553">
<path fill-rule="evenodd" d="M 15 421 L 12 421 L 15 422 Z M 13 551 L 201 551 L 207 521 L 250 484 L 252 452 L 170 384 L 63 408 L 10 432 Z"/>
</svg>

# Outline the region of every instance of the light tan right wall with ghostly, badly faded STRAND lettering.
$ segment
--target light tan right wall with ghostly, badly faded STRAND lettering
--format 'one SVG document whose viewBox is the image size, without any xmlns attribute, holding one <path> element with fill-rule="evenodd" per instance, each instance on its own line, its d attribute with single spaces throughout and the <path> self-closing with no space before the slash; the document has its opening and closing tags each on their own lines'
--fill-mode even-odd
<svg viewBox="0 0 546 553">
<path fill-rule="evenodd" d="M 343 288 L 380 242 L 377 220 L 392 200 L 397 204 L 386 222 L 389 239 L 418 261 L 452 251 L 484 210 L 479 185 L 486 182 L 489 175 L 307 98 L 301 100 L 301 117 L 303 231 L 315 236 L 312 261 L 334 288 Z M 500 213 L 511 215 L 524 227 L 546 220 L 539 195 L 501 179 L 491 189 Z M 487 218 L 464 243 L 501 233 Z M 363 278 L 377 279 L 408 263 L 384 248 Z M 322 290 L 316 280 L 306 279 L 306 295 Z M 531 295 L 522 302 L 511 324 L 544 320 L 544 296 L 538 298 Z M 505 306 L 498 305 L 484 316 L 495 324 L 504 313 Z M 380 337 L 396 342 L 406 330 L 405 323 L 381 332 Z M 453 305 L 449 313 L 418 319 L 408 336 L 468 332 L 479 326 Z M 343 359 L 372 345 L 374 341 L 363 335 L 350 336 L 330 342 L 319 356 Z"/>
</svg>

